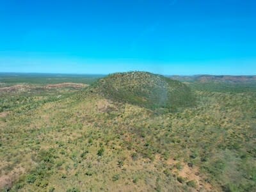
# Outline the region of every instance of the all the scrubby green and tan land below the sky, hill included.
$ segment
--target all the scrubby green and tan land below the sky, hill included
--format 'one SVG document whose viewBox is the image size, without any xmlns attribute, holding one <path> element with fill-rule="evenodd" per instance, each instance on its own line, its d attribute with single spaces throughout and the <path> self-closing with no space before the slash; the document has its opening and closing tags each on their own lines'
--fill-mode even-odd
<svg viewBox="0 0 256 192">
<path fill-rule="evenodd" d="M 256 191 L 254 81 L 49 78 L 0 78 L 3 191 Z"/>
</svg>

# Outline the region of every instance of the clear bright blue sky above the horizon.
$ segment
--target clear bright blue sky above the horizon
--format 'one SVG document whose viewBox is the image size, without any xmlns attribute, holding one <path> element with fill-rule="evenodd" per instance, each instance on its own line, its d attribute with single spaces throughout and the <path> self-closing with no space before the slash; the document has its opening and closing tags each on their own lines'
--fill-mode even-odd
<svg viewBox="0 0 256 192">
<path fill-rule="evenodd" d="M 0 1 L 0 72 L 256 75 L 256 1 Z"/>
</svg>

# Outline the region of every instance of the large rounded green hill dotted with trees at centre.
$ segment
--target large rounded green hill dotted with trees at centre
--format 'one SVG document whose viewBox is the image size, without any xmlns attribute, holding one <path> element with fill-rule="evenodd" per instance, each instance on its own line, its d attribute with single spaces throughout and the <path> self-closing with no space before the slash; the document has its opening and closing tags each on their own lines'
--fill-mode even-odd
<svg viewBox="0 0 256 192">
<path fill-rule="evenodd" d="M 99 79 L 94 85 L 104 97 L 149 109 L 195 105 L 186 84 L 149 72 L 124 72 Z"/>
</svg>

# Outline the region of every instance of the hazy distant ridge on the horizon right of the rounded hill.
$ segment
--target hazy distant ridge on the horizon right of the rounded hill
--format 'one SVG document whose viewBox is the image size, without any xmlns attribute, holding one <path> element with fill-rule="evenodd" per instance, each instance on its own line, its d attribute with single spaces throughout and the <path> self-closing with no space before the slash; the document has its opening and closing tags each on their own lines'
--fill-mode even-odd
<svg viewBox="0 0 256 192">
<path fill-rule="evenodd" d="M 171 79 L 178 81 L 198 81 L 207 83 L 209 81 L 215 83 L 256 83 L 256 76 L 210 76 L 210 75 L 196 75 L 196 76 L 170 76 Z"/>
</svg>

